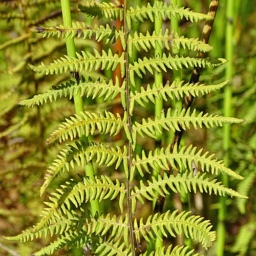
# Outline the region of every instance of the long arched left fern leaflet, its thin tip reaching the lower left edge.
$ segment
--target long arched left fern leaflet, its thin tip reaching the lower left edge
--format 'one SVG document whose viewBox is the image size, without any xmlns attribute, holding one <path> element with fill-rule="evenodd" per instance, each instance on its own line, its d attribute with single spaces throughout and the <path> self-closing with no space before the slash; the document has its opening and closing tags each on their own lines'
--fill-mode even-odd
<svg viewBox="0 0 256 256">
<path fill-rule="evenodd" d="M 62 189 L 57 189 L 57 193 L 52 193 L 49 197 L 51 202 L 45 202 L 48 208 L 44 208 L 41 213 L 41 220 L 30 229 L 30 233 L 43 232 L 45 228 L 48 228 L 52 223 L 56 223 L 60 217 L 71 210 L 71 203 L 76 208 L 81 206 L 83 202 L 92 200 L 110 200 L 115 199 L 119 194 L 119 207 L 121 212 L 123 211 L 123 200 L 126 195 L 125 185 L 116 180 L 116 184 L 110 180 L 107 176 L 101 176 L 101 179 L 95 177 L 95 180 L 91 177 L 83 177 L 79 175 L 82 181 L 77 182 L 70 180 L 66 182 L 66 185 L 62 185 Z M 40 231 L 43 230 L 43 231 Z M 29 238 L 32 235 L 30 234 Z M 22 238 L 26 238 L 26 233 Z M 10 237 L 9 240 L 16 240 L 19 237 Z"/>
</svg>

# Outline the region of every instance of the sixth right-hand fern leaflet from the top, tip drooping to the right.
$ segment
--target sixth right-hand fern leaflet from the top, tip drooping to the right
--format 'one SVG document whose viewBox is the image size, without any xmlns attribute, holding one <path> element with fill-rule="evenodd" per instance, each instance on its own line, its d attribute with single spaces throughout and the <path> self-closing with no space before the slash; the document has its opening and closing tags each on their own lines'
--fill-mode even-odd
<svg viewBox="0 0 256 256">
<path fill-rule="evenodd" d="M 171 145 L 169 144 L 165 150 L 162 147 L 161 149 L 156 149 L 154 153 L 150 151 L 148 156 L 146 156 L 145 151 L 142 151 L 142 157 L 140 158 L 136 155 L 136 158 L 133 159 L 132 166 L 131 166 L 131 179 L 133 178 L 135 169 L 138 170 L 139 174 L 143 177 L 142 166 L 146 170 L 147 173 L 150 173 L 147 165 L 150 165 L 154 170 L 159 172 L 159 167 L 163 170 L 167 170 L 170 167 L 178 170 L 176 163 L 179 165 L 179 169 L 182 169 L 184 166 L 190 170 L 193 170 L 193 162 L 198 165 L 201 164 L 201 169 L 203 172 L 210 172 L 212 174 L 217 174 L 220 172 L 222 174 L 231 176 L 235 179 L 242 180 L 244 179 L 239 174 L 233 172 L 233 170 L 225 167 L 225 163 L 222 160 L 212 159 L 214 158 L 215 154 L 211 154 L 208 156 L 209 152 L 205 152 L 202 155 L 203 148 L 201 148 L 197 153 L 197 147 L 193 147 L 190 145 L 188 147 L 183 146 L 180 151 L 178 152 L 177 143 L 174 146 L 173 153 L 170 151 Z M 176 163 L 175 163 L 176 161 Z M 170 167 L 169 167 L 169 165 Z"/>
</svg>

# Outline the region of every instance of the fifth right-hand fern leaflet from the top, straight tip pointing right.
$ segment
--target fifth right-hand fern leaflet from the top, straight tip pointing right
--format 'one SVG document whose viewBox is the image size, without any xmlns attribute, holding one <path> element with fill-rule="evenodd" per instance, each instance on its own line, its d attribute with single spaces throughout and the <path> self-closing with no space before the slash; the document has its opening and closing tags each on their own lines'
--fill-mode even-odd
<svg viewBox="0 0 256 256">
<path fill-rule="evenodd" d="M 166 116 L 162 110 L 160 117 L 156 116 L 153 121 L 150 117 L 142 119 L 142 123 L 135 122 L 133 124 L 133 147 L 136 146 L 136 136 L 137 133 L 144 139 L 144 134 L 156 138 L 156 133 L 162 134 L 161 128 L 169 131 L 181 131 L 181 129 L 186 130 L 186 127 L 190 129 L 190 124 L 193 124 L 194 128 L 197 130 L 197 125 L 202 128 L 202 124 L 206 128 L 214 127 L 214 125 L 222 126 L 223 124 L 232 124 L 232 123 L 241 123 L 244 122 L 244 119 L 238 119 L 233 117 L 224 117 L 214 114 L 203 114 L 201 112 L 199 115 L 196 115 L 196 109 L 190 115 L 190 108 L 188 110 L 182 109 L 179 113 L 178 108 L 174 111 L 172 115 L 171 109 L 167 110 Z M 144 134 L 143 134 L 144 133 Z"/>
</svg>

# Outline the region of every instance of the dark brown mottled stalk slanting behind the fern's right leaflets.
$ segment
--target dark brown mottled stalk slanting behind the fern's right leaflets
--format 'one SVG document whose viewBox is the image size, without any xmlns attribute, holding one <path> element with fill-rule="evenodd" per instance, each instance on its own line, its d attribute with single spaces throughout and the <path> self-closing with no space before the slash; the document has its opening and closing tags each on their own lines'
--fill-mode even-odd
<svg viewBox="0 0 256 256">
<path fill-rule="evenodd" d="M 209 11 L 208 11 L 207 14 L 212 16 L 213 19 L 206 20 L 204 28 L 203 28 L 202 36 L 201 36 L 201 41 L 205 42 L 206 44 L 208 44 L 208 41 L 209 41 L 209 37 L 210 37 L 211 30 L 212 30 L 212 25 L 214 24 L 214 18 L 216 16 L 218 5 L 219 5 L 219 0 L 211 0 L 210 6 L 209 6 Z M 205 53 L 199 51 L 198 52 L 198 57 L 199 58 L 204 58 L 205 57 Z M 193 73 L 192 73 L 192 75 L 190 77 L 190 83 L 195 84 L 195 83 L 197 83 L 199 81 L 201 70 L 202 70 L 202 68 L 200 68 L 198 66 L 194 67 Z M 183 101 L 183 108 L 185 108 L 185 109 L 190 108 L 190 106 L 191 106 L 191 104 L 193 102 L 193 99 L 194 99 L 194 97 L 192 95 L 190 95 L 189 97 L 185 96 L 184 97 L 184 101 Z M 172 141 L 172 145 L 171 145 L 171 148 L 170 148 L 171 153 L 173 152 L 174 145 L 177 143 L 178 146 L 179 146 L 179 144 L 180 144 L 180 141 L 181 141 L 181 138 L 182 138 L 182 134 L 183 134 L 183 132 L 182 132 L 183 129 L 181 128 L 180 130 L 181 130 L 180 132 L 179 131 L 175 132 L 175 135 L 174 135 L 174 138 L 173 138 L 173 141 Z M 170 175 L 171 170 L 172 169 L 168 169 L 167 170 L 166 173 L 167 173 L 168 176 Z M 159 209 L 163 208 L 164 200 L 165 200 L 165 197 L 159 196 L 159 198 L 157 200 L 157 205 L 158 205 L 157 207 Z"/>
</svg>

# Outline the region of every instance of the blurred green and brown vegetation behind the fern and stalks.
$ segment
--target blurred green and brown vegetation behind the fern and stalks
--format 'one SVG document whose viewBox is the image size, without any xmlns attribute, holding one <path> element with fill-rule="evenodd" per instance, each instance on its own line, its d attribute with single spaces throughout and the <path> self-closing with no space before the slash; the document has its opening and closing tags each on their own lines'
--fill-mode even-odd
<svg viewBox="0 0 256 256">
<path fill-rule="evenodd" d="M 92 19 L 78 13 L 77 1 L 71 1 L 72 19 L 91 24 Z M 143 1 L 138 1 L 143 2 Z M 176 2 L 176 1 L 174 1 Z M 190 0 L 180 1 L 181 5 L 190 7 L 197 12 L 207 13 L 210 1 Z M 139 3 L 138 3 L 139 4 Z M 227 47 L 233 46 L 232 76 L 230 84 L 232 88 L 232 102 L 230 116 L 242 118 L 246 121 L 231 127 L 231 139 L 229 152 L 229 167 L 242 176 L 245 180 L 238 184 L 231 180 L 229 187 L 237 188 L 243 195 L 248 195 L 248 200 L 227 199 L 226 224 L 226 244 L 225 255 L 248 255 L 256 254 L 256 204 L 255 204 L 255 177 L 256 177 L 256 6 L 253 1 L 234 1 L 232 18 L 226 18 L 228 1 L 220 1 L 214 29 L 212 31 L 209 44 L 215 48 L 209 53 L 212 57 L 226 57 Z M 44 183 L 45 170 L 51 165 L 58 154 L 60 147 L 46 147 L 45 141 L 55 129 L 63 117 L 74 113 L 74 105 L 67 98 L 45 104 L 38 108 L 24 108 L 17 105 L 17 101 L 31 98 L 33 95 L 45 92 L 49 89 L 49 84 L 58 84 L 69 80 L 69 74 L 42 76 L 34 73 L 28 63 L 39 65 L 40 61 L 50 63 L 52 59 L 66 54 L 65 38 L 50 37 L 42 38 L 30 31 L 33 27 L 53 27 L 62 24 L 59 1 L 0 1 L 0 234 L 2 236 L 15 236 L 27 227 L 37 222 L 41 212 L 43 201 L 54 188 L 63 184 L 66 180 L 77 177 L 77 172 L 68 172 L 56 179 L 50 190 L 39 198 L 40 186 Z M 106 20 L 100 21 L 105 24 Z M 93 22 L 97 23 L 96 19 Z M 118 27 L 118 21 L 115 22 Z M 203 22 L 192 24 L 185 19 L 179 20 L 180 34 L 185 37 L 200 37 Z M 233 33 L 227 39 L 226 26 L 230 23 Z M 100 25 L 100 24 L 98 24 Z M 137 25 L 139 26 L 139 24 Z M 144 23 L 142 30 L 152 31 L 151 23 Z M 169 24 L 163 23 L 164 28 Z M 174 26 L 174 25 L 173 25 Z M 135 28 L 136 30 L 136 25 Z M 95 40 L 76 39 L 77 51 L 96 48 L 102 49 L 104 42 Z M 120 50 L 120 45 L 116 43 L 115 51 Z M 115 52 L 113 51 L 113 52 Z M 120 53 L 120 52 L 119 52 Z M 180 50 L 180 55 L 185 54 L 185 50 Z M 196 53 L 192 53 L 196 54 Z M 227 57 L 226 57 L 227 58 Z M 206 84 L 218 83 L 227 77 L 225 65 L 215 70 L 207 69 L 203 71 L 200 81 Z M 98 76 L 113 76 L 110 71 L 102 73 L 92 72 L 90 76 L 96 79 Z M 118 74 L 117 74 L 118 75 Z M 165 75 L 165 74 L 164 74 Z M 182 79 L 189 80 L 191 71 L 183 70 Z M 174 74 L 175 76 L 175 74 Z M 146 77 L 147 83 L 149 77 Z M 138 80 L 141 83 L 140 80 Z M 208 94 L 197 98 L 194 106 L 197 110 L 223 115 L 224 113 L 224 90 Z M 94 105 L 91 99 L 84 100 L 87 111 L 93 110 Z M 97 99 L 100 110 L 112 110 L 120 113 L 120 99 L 104 102 Z M 166 104 L 164 102 L 164 104 Z M 145 113 L 146 111 L 146 113 Z M 148 108 L 137 108 L 134 115 L 138 120 L 144 116 L 154 116 L 154 104 Z M 96 137 L 102 135 L 96 135 Z M 103 135 L 104 136 L 104 135 Z M 168 139 L 168 134 L 164 134 L 164 140 Z M 102 138 L 102 137 L 101 137 Z M 112 138 L 104 136 L 109 144 L 122 145 L 122 136 L 112 141 Z M 190 129 L 185 133 L 185 141 L 193 143 L 199 148 L 205 147 L 210 152 L 216 153 L 222 159 L 226 154 L 223 150 L 223 131 L 214 128 L 211 130 Z M 155 141 L 149 137 L 146 140 L 139 140 L 140 148 L 149 151 L 155 146 Z M 52 157 L 51 157 L 52 156 Z M 80 173 L 83 173 L 81 168 Z M 99 167 L 98 173 L 105 172 L 103 167 Z M 119 170 L 110 169 L 113 179 L 124 178 L 124 173 Z M 146 177 L 145 177 L 146 178 Z M 194 214 L 202 215 L 205 219 L 211 220 L 215 229 L 218 225 L 218 209 L 221 202 L 217 197 L 196 194 L 187 198 L 175 195 L 166 199 L 165 205 L 171 208 L 189 208 Z M 115 212 L 118 207 L 115 204 L 104 204 L 103 207 L 108 212 Z M 137 206 L 140 207 L 140 206 Z M 140 209 L 138 209 L 140 211 Z M 150 215 L 152 204 L 143 206 L 143 214 Z M 15 243 L 0 239 L 0 242 L 17 251 L 20 255 L 28 255 L 42 246 L 49 244 L 53 238 L 39 239 L 28 243 Z M 173 241 L 174 244 L 182 243 Z M 189 242 L 188 242 L 189 244 Z M 146 245 L 142 245 L 146 246 Z M 8 255 L 0 248 L 1 255 Z M 200 252 L 200 248 L 198 248 Z M 81 255 L 80 250 L 74 250 L 74 255 Z M 216 245 L 211 247 L 204 255 L 215 255 Z M 65 250 L 60 250 L 56 255 L 66 255 Z"/>
</svg>

